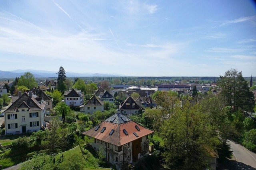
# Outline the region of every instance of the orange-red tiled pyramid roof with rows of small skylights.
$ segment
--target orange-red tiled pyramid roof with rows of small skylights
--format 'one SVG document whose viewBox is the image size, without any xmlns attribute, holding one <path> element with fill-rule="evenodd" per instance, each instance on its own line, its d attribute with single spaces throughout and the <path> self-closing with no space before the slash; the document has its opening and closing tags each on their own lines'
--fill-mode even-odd
<svg viewBox="0 0 256 170">
<path fill-rule="evenodd" d="M 119 115 L 122 115 L 122 114 L 116 113 L 113 116 L 118 117 Z M 122 115 L 122 116 L 125 117 L 124 115 Z M 109 120 L 109 119 L 107 119 L 107 120 Z M 99 140 L 107 142 L 107 143 L 111 143 L 116 146 L 122 146 L 122 145 L 132 142 L 138 138 L 141 138 L 141 137 L 144 137 L 151 133 L 154 133 L 154 131 L 152 131 L 146 127 L 143 127 L 142 125 L 139 125 L 138 123 L 136 123 L 128 118 L 127 118 L 128 121 L 126 121 L 124 123 L 119 122 L 119 124 L 111 123 L 107 120 L 103 121 L 102 123 L 97 125 L 97 126 L 99 126 L 97 131 L 95 130 L 97 126 L 95 126 L 92 129 L 89 129 L 88 131 L 83 132 L 82 134 L 88 135 L 90 137 L 94 137 L 96 139 L 99 139 Z M 135 127 L 136 125 L 138 126 L 138 129 L 140 129 L 140 130 L 136 129 L 136 127 Z M 104 127 L 106 129 L 104 130 L 104 132 L 101 132 Z M 128 135 L 125 135 L 125 133 L 123 131 L 124 129 L 127 131 Z M 114 133 L 112 133 L 112 135 L 110 135 L 110 132 L 112 130 L 114 130 Z M 136 137 L 136 135 L 134 135 L 134 132 L 138 135 L 138 137 Z"/>
</svg>

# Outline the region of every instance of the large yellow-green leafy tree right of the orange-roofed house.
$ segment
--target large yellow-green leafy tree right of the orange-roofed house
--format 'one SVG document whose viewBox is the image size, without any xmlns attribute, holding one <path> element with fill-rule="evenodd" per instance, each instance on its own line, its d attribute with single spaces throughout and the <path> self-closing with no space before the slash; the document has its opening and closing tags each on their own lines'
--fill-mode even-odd
<svg viewBox="0 0 256 170">
<path fill-rule="evenodd" d="M 209 115 L 198 104 L 186 102 L 168 121 L 164 121 L 161 136 L 166 146 L 164 159 L 171 169 L 204 169 L 206 159 L 216 152 L 218 135 L 212 129 Z"/>
</svg>

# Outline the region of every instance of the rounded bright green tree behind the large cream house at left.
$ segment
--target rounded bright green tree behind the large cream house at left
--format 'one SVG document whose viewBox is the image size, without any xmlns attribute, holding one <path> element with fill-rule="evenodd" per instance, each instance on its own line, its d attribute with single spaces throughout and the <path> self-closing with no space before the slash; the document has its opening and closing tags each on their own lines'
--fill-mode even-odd
<svg viewBox="0 0 256 170">
<path fill-rule="evenodd" d="M 34 86 L 37 86 L 37 82 L 32 73 L 25 72 L 24 75 L 20 76 L 18 86 L 26 86 L 26 88 L 32 89 Z"/>
</svg>

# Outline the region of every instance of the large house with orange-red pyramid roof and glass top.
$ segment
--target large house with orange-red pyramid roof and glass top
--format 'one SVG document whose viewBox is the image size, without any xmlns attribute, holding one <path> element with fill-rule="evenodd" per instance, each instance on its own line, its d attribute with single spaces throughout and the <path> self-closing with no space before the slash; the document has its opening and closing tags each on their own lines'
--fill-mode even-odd
<svg viewBox="0 0 256 170">
<path fill-rule="evenodd" d="M 95 150 L 104 149 L 106 161 L 122 169 L 149 154 L 148 135 L 152 133 L 154 131 L 116 113 L 82 134 L 94 139 Z"/>
</svg>

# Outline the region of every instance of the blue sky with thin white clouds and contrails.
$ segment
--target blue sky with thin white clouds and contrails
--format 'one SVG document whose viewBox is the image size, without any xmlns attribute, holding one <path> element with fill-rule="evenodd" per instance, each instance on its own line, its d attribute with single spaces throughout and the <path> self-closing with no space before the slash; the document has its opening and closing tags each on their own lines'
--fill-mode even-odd
<svg viewBox="0 0 256 170">
<path fill-rule="evenodd" d="M 250 0 L 1 0 L 0 70 L 256 76 Z"/>
</svg>

